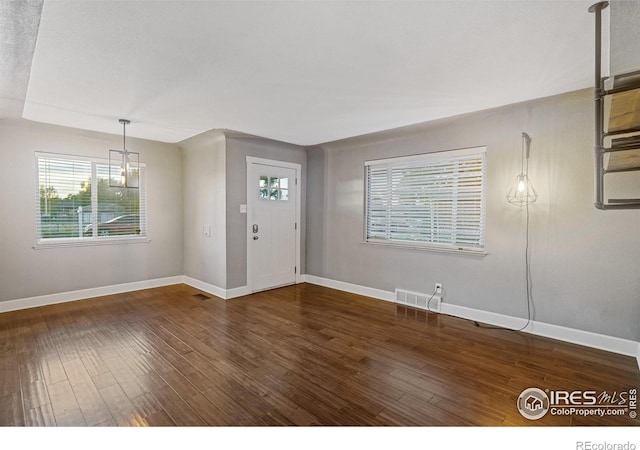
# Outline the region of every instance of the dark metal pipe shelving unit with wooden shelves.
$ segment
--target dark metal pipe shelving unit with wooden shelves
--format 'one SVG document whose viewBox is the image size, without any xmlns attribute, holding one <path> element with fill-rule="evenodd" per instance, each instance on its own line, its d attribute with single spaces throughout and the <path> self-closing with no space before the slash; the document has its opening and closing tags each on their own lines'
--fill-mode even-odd
<svg viewBox="0 0 640 450">
<path fill-rule="evenodd" d="M 605 176 L 640 171 L 640 71 L 616 75 L 607 89 L 602 76 L 602 10 L 609 2 L 589 8 L 596 17 L 595 61 L 595 177 L 598 209 L 639 209 L 640 198 L 607 198 Z M 606 121 L 605 121 L 606 119 Z"/>
</svg>

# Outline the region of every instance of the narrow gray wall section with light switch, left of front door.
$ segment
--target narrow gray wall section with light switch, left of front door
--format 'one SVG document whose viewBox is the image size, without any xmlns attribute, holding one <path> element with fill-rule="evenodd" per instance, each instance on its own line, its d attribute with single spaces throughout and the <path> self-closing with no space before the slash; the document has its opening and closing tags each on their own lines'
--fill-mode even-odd
<svg viewBox="0 0 640 450">
<path fill-rule="evenodd" d="M 227 287 L 226 140 L 209 131 L 180 143 L 183 158 L 184 274 Z M 203 227 L 211 228 L 211 236 Z"/>
</svg>

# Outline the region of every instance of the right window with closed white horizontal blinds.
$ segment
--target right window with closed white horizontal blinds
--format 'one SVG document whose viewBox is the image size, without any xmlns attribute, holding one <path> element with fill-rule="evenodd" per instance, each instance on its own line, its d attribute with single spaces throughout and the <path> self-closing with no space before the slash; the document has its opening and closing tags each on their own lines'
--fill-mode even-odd
<svg viewBox="0 0 640 450">
<path fill-rule="evenodd" d="M 484 252 L 486 148 L 365 162 L 365 241 Z"/>
</svg>

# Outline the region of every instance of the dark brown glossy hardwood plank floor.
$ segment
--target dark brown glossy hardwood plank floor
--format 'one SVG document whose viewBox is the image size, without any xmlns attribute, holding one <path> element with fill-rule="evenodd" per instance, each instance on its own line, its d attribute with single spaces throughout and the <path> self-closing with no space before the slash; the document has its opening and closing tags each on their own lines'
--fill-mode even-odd
<svg viewBox="0 0 640 450">
<path fill-rule="evenodd" d="M 640 388 L 631 357 L 310 284 L 186 285 L 0 314 L 5 426 L 639 425 L 516 408 Z"/>
</svg>

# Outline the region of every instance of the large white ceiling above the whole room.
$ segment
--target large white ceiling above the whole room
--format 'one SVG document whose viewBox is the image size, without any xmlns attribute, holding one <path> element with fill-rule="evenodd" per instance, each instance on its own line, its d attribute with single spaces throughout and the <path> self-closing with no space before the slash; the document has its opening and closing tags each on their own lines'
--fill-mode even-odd
<svg viewBox="0 0 640 450">
<path fill-rule="evenodd" d="M 328 142 L 591 86 L 593 2 L 46 0 L 23 116 Z"/>
</svg>

